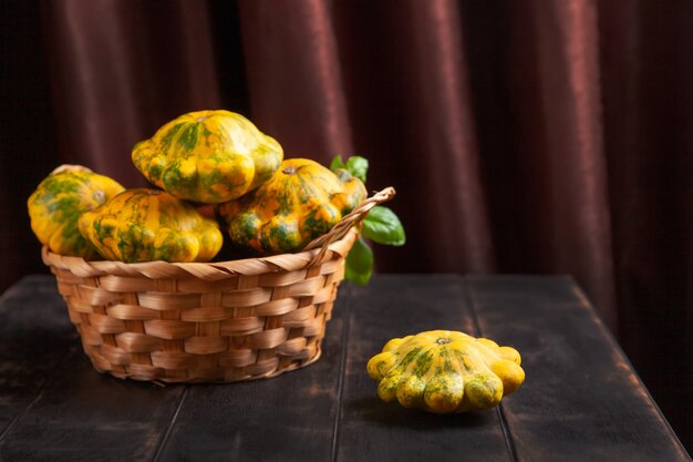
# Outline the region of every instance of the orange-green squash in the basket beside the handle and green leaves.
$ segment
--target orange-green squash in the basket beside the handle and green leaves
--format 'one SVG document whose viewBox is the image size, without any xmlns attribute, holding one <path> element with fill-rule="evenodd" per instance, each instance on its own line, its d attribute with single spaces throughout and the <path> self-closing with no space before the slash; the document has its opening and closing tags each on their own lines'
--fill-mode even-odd
<svg viewBox="0 0 693 462">
<path fill-rule="evenodd" d="M 366 196 L 346 171 L 290 158 L 255 193 L 219 206 L 235 247 L 260 255 L 301 250 Z"/>
</svg>

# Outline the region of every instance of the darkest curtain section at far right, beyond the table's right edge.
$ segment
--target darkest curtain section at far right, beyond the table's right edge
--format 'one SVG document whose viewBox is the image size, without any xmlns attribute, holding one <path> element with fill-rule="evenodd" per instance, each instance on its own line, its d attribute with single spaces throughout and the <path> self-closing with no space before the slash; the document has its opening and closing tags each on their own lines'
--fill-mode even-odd
<svg viewBox="0 0 693 462">
<path fill-rule="evenodd" d="M 687 2 L 599 3 L 619 338 L 689 451 L 692 18 Z"/>
</svg>

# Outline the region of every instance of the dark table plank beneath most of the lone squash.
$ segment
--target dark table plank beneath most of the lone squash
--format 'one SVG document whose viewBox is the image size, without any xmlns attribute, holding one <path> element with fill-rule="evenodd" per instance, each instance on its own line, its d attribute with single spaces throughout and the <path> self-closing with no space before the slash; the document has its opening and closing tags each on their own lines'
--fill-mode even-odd
<svg viewBox="0 0 693 462">
<path fill-rule="evenodd" d="M 384 403 L 365 372 L 391 338 L 474 332 L 466 299 L 456 276 L 380 276 L 354 292 L 335 460 L 511 460 L 497 412 L 436 415 Z"/>
</svg>

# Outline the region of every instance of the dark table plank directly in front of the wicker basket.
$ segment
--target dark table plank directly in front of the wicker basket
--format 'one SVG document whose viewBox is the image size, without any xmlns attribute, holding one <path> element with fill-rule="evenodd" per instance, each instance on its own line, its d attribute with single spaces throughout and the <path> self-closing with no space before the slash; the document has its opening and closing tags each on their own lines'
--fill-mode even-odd
<svg viewBox="0 0 693 462">
<path fill-rule="evenodd" d="M 268 380 L 190 388 L 158 460 L 329 461 L 350 305 L 343 285 L 317 362 Z"/>
</svg>

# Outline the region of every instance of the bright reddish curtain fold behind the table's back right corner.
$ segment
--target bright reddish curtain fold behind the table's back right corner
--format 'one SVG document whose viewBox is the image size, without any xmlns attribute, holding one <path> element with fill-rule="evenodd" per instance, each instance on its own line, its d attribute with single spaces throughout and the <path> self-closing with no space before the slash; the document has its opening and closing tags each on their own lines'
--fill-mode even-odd
<svg viewBox="0 0 693 462">
<path fill-rule="evenodd" d="M 541 144 L 529 148 L 542 151 L 547 181 L 547 269 L 576 275 L 616 329 L 596 4 L 537 1 L 532 16 L 541 79 L 526 109 L 545 121 Z"/>
</svg>

